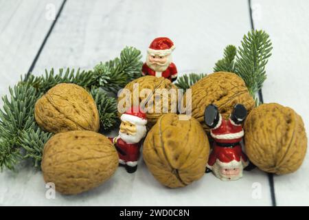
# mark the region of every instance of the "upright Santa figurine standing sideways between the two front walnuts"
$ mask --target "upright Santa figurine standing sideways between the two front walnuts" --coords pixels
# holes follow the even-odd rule
[[[119,165],[125,166],[128,173],[137,170],[141,140],[146,136],[146,113],[139,107],[131,107],[123,113],[117,137],[109,137],[119,155]]]

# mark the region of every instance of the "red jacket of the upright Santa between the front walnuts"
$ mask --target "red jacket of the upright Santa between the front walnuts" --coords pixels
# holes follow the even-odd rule
[[[113,142],[114,138],[109,137],[109,140]],[[120,137],[117,138],[115,143],[119,159],[124,160],[124,162],[135,162],[139,159],[139,148],[141,147],[141,142],[136,144],[127,144]]]

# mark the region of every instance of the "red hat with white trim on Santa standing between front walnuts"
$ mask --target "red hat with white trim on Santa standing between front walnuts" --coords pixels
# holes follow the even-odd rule
[[[139,107],[130,107],[130,109],[128,109],[126,113],[122,114],[120,119],[122,121],[128,121],[139,125],[147,124],[146,113],[144,111],[141,111]]]

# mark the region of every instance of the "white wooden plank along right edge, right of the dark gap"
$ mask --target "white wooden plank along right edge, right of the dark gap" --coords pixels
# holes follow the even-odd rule
[[[254,0],[255,28],[270,34],[273,56],[267,65],[265,102],[278,102],[302,116],[309,127],[309,14],[308,1]],[[275,195],[279,206],[309,205],[309,157],[297,172],[275,176]]]

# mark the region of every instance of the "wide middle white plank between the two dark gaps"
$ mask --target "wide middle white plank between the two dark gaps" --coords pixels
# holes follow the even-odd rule
[[[35,74],[50,67],[90,69],[118,56],[126,45],[146,49],[157,36],[176,44],[174,63],[179,72],[211,72],[227,44],[240,43],[250,29],[246,0],[239,1],[68,1],[43,50]],[[38,205],[271,205],[268,180],[259,170],[244,173],[239,181],[224,182],[211,174],[200,181],[171,190],[161,186],[141,161],[137,173],[119,168],[100,188],[74,197],[45,199],[40,172],[5,172],[0,193],[3,204]],[[27,179],[27,180],[25,180]],[[254,183],[261,196],[252,197]],[[23,188],[21,188],[23,185]],[[31,186],[30,186],[31,185]],[[2,188],[2,187],[1,187]],[[2,196],[1,196],[2,195]],[[10,199],[9,199],[10,198]]]

